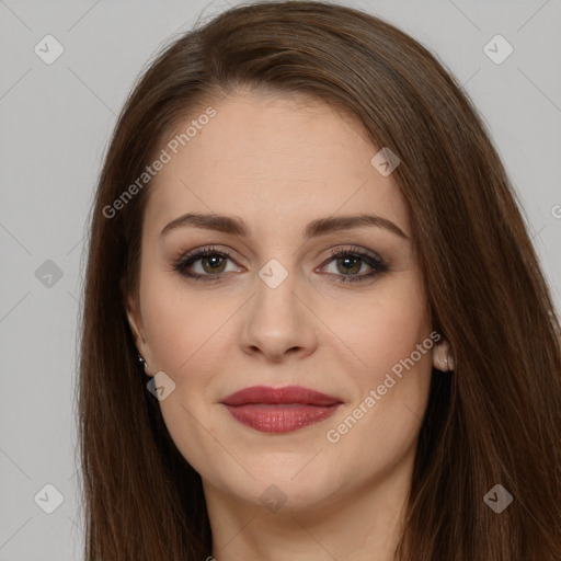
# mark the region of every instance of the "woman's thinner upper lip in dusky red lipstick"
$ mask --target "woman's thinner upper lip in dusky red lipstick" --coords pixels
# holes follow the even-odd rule
[[[342,401],[333,396],[328,396],[310,388],[302,388],[301,386],[285,386],[284,388],[252,386],[234,391],[224,398],[221,403],[227,405],[243,405],[245,403],[302,403],[327,407],[342,403]]]

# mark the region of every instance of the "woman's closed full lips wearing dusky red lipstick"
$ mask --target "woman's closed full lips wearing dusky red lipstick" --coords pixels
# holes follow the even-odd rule
[[[252,386],[221,401],[240,423],[263,433],[288,433],[331,416],[339,398],[300,386]]]

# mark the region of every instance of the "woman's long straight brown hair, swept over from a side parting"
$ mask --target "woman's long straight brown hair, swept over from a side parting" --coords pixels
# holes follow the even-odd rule
[[[237,88],[343,107],[401,160],[392,178],[456,367],[433,370],[396,559],[561,559],[559,319],[500,157],[426,48],[374,15],[314,1],[244,4],[174,38],[119,116],[92,207],[81,318],[85,559],[210,556],[201,477],[147,391],[125,314],[149,183],[114,216],[104,208],[179,123]],[[495,484],[513,496],[500,514],[483,501]]]

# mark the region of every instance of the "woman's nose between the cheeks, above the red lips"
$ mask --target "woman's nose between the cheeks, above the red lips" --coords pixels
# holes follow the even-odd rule
[[[245,307],[241,345],[243,352],[271,362],[302,358],[318,346],[319,320],[311,296],[296,282],[294,274],[275,288],[261,277],[256,294]]]

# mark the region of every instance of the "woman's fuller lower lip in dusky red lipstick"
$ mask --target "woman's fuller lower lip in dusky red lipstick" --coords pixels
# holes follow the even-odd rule
[[[262,433],[290,433],[331,416],[341,403],[328,407],[294,404],[248,403],[226,405],[240,423]]]

